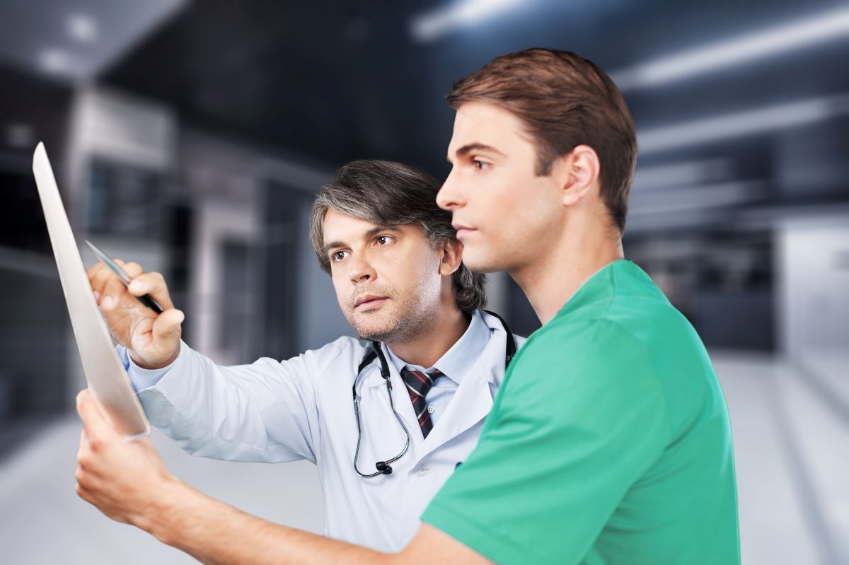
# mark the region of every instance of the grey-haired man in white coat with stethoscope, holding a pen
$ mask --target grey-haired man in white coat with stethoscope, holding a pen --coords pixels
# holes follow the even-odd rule
[[[121,263],[133,278],[125,288],[93,266],[89,280],[150,422],[198,456],[311,461],[326,534],[380,551],[407,545],[475,447],[515,349],[506,325],[481,310],[485,278],[462,264],[439,188],[374,160],[342,167],[323,187],[312,245],[360,339],[289,360],[218,366],[181,340],[183,313],[159,273]],[[165,310],[132,296],[143,294]]]

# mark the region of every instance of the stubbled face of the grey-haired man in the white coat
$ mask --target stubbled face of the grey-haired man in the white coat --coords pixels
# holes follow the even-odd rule
[[[377,226],[331,209],[323,232],[336,299],[361,338],[402,343],[428,327],[441,255],[421,227]]]

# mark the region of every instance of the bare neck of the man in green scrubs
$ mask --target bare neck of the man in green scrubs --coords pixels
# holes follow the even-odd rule
[[[557,240],[546,249],[543,255],[509,271],[543,324],[596,271],[625,256],[621,238],[599,218],[566,222]]]

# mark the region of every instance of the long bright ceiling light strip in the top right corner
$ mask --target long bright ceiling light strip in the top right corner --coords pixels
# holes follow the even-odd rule
[[[818,14],[795,24],[741,36],[614,72],[621,91],[655,87],[722,67],[769,57],[813,43],[849,37],[849,8]]]

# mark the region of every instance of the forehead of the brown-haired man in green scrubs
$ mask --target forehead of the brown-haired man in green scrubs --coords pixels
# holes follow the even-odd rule
[[[507,153],[510,148],[531,142],[521,120],[512,112],[491,103],[467,102],[454,117],[448,156],[469,143],[482,143]]]

